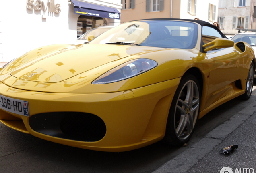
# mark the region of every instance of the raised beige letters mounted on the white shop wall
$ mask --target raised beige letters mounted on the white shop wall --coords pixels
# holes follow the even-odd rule
[[[45,8],[45,4],[41,0],[37,0],[34,2],[34,0],[27,0],[27,8],[29,10],[37,10],[37,11],[46,11],[48,8],[48,12],[55,12],[59,14],[61,12],[60,10],[60,4],[55,4],[54,0],[48,0],[47,1],[47,6]]]

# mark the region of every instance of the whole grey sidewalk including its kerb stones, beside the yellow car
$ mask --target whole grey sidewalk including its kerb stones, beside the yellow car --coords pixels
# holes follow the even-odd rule
[[[250,99],[254,101],[250,105],[153,173],[256,172],[255,93],[256,91],[253,91]],[[229,155],[219,153],[229,145],[238,145],[238,149]]]

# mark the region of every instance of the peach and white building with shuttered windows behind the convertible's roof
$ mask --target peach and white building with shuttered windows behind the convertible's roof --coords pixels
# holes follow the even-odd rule
[[[216,0],[121,0],[121,22],[148,18],[199,18],[217,22]]]

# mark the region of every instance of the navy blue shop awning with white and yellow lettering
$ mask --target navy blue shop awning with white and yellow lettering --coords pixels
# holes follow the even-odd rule
[[[71,0],[74,4],[74,13],[86,16],[120,19],[120,12],[116,8]]]

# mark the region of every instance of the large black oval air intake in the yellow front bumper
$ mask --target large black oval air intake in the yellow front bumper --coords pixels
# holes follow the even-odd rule
[[[106,134],[104,121],[90,113],[41,113],[31,116],[29,125],[39,133],[76,141],[99,141]]]

